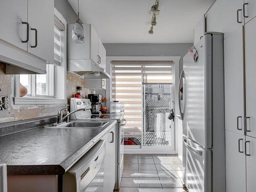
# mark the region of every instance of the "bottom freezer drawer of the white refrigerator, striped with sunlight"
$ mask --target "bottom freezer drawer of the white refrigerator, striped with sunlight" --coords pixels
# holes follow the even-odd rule
[[[212,152],[183,137],[183,182],[189,192],[211,192]]]

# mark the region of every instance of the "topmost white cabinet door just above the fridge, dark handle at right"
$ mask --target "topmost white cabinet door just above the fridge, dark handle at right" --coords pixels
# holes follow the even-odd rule
[[[223,32],[224,38],[228,37],[243,23],[242,8],[242,0],[216,1],[206,13],[207,31]],[[238,23],[238,21],[241,23]]]

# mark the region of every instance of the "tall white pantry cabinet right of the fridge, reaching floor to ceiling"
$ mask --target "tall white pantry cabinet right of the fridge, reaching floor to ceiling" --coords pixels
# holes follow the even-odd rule
[[[206,13],[206,28],[225,34],[226,191],[254,192],[256,1],[217,0]]]

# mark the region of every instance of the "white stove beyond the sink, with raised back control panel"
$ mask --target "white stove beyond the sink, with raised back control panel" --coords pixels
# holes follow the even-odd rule
[[[123,150],[124,150],[124,129],[126,123],[123,113],[106,113],[95,115],[91,113],[92,105],[90,99],[71,98],[70,112],[77,109],[86,108],[86,111],[78,111],[71,115],[71,119],[114,119],[118,121],[117,126],[117,151],[116,151],[116,184],[115,189],[120,188],[121,177],[123,173]]]

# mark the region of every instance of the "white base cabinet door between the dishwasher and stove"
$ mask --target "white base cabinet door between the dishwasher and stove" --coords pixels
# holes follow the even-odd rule
[[[116,127],[114,126],[105,136],[104,161],[104,191],[113,191],[116,181]]]

